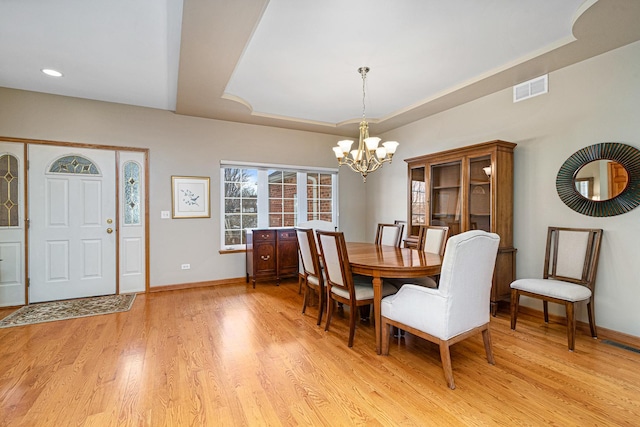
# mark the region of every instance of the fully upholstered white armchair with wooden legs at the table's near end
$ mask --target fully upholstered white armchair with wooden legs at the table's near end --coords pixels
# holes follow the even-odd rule
[[[495,364],[489,332],[490,293],[500,237],[483,230],[457,234],[447,241],[438,289],[406,284],[382,299],[382,354],[389,354],[391,327],[440,347],[449,388],[454,389],[449,347],[482,333],[487,361]]]

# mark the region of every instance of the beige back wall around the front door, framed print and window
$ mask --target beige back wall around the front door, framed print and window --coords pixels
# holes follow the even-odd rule
[[[152,287],[244,277],[243,253],[218,252],[220,160],[333,168],[339,139],[1,88],[0,136],[149,148]],[[171,210],[171,175],[211,177],[210,219],[160,219]],[[339,182],[340,228],[361,240],[362,182],[346,169]]]

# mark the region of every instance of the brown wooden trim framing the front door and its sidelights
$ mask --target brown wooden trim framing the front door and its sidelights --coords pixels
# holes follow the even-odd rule
[[[116,168],[116,224],[118,227],[116,228],[116,294],[120,293],[120,152],[121,151],[131,151],[138,152],[144,154],[144,240],[145,240],[145,250],[144,250],[144,268],[145,268],[145,284],[144,284],[144,292],[149,293],[150,289],[150,278],[149,278],[149,270],[150,270],[150,260],[149,260],[149,149],[148,148],[138,148],[138,147],[126,147],[126,146],[118,146],[118,145],[105,145],[105,144],[87,144],[87,143],[78,143],[78,142],[66,142],[66,141],[53,141],[53,140],[44,140],[44,139],[30,139],[30,138],[14,138],[14,137],[5,137],[0,136],[0,141],[4,142],[16,142],[24,144],[24,159],[25,166],[23,168],[23,182],[24,182],[24,220],[27,222],[27,225],[24,227],[24,277],[25,277],[25,304],[29,304],[29,180],[28,180],[28,170],[29,170],[29,157],[28,157],[28,148],[29,145],[53,145],[60,147],[75,147],[75,148],[88,148],[88,149],[97,149],[97,150],[112,150],[115,152],[116,164],[114,165]]]

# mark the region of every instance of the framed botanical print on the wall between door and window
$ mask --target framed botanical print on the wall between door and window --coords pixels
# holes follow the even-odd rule
[[[172,176],[171,217],[211,218],[209,185],[205,176]]]

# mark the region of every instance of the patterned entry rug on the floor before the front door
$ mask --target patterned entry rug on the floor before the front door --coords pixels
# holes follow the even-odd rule
[[[0,320],[0,328],[129,311],[135,299],[122,294],[25,305]]]

